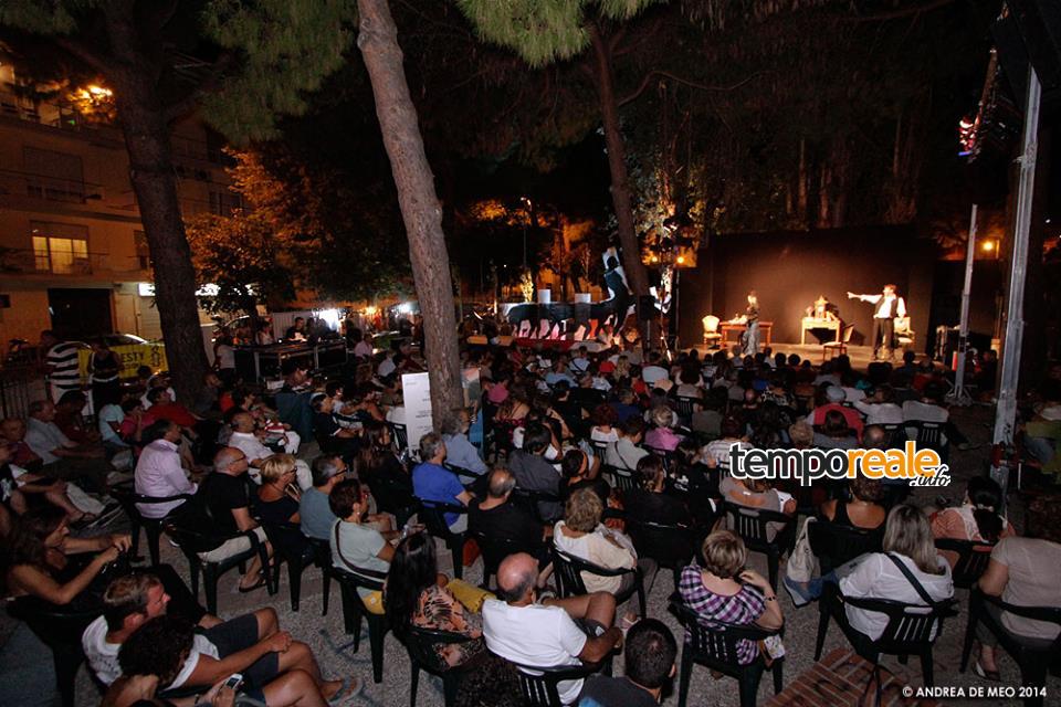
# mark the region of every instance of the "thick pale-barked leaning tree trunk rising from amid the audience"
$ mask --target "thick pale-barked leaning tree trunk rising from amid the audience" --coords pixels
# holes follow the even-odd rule
[[[376,115],[398,188],[398,202],[409,236],[412,277],[423,316],[424,347],[431,380],[431,410],[438,425],[442,416],[464,404],[453,284],[442,233],[442,207],[434,176],[423,151],[417,109],[409,97],[402,67],[398,29],[387,0],[357,0],[361,51],[376,97]],[[416,440],[410,440],[416,444]]]

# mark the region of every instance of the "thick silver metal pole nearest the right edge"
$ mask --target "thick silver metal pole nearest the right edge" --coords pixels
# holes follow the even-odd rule
[[[1017,421],[1017,386],[1020,374],[1020,349],[1025,320],[1025,277],[1028,268],[1028,232],[1031,229],[1031,202],[1036,186],[1036,156],[1039,150],[1039,104],[1042,87],[1033,66],[1028,66],[1028,95],[1025,105],[1025,135],[1017,191],[1017,218],[1013,223],[1013,250],[1009,272],[1009,297],[1006,305],[1006,335],[1002,339],[1002,371],[995,409],[995,444],[1013,442]],[[1002,489],[1009,481],[1009,469],[1002,463],[991,468]]]

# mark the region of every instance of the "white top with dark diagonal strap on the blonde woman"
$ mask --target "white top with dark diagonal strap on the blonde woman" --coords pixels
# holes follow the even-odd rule
[[[922,572],[914,561],[902,555],[893,555],[900,562],[917,578],[921,585],[934,601],[942,601],[954,597],[954,582],[950,581],[950,566],[947,561],[937,556],[939,567],[943,568],[943,574],[927,574]],[[854,571],[847,577],[840,578],[840,591],[848,597],[862,597],[865,599],[891,599],[908,604],[924,604],[925,600],[921,598],[914,585],[910,583],[906,576],[895,567],[895,563],[887,559],[883,552],[874,552],[863,556]],[[851,626],[872,640],[878,640],[884,633],[887,626],[887,615],[876,611],[866,611],[855,606],[847,606],[848,621]],[[927,610],[926,610],[927,612]],[[938,626],[933,630],[933,634],[938,631]]]

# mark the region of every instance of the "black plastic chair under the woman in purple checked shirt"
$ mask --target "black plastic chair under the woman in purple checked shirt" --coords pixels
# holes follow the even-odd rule
[[[679,668],[677,707],[685,707],[689,700],[689,683],[693,665],[696,664],[736,677],[740,685],[740,707],[754,707],[766,662],[760,654],[752,663],[740,664],[737,644],[740,641],[760,641],[767,636],[782,635],[784,627],[767,631],[753,624],[736,625],[716,621],[711,622],[708,627],[701,623],[695,611],[675,597],[671,598],[671,612],[685,626],[687,635]],[[776,658],[769,669],[774,673],[774,694],[777,695],[785,682],[785,656]]]

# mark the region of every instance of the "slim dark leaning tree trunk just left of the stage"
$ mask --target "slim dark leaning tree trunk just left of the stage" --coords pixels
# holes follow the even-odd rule
[[[627,150],[619,127],[619,104],[616,101],[611,71],[611,53],[608,43],[596,23],[590,22],[589,35],[597,55],[597,95],[608,146],[608,169],[611,172],[611,201],[619,222],[619,245],[622,247],[622,267],[627,284],[637,296],[649,294],[649,278],[641,262],[641,247],[633,225],[633,205],[630,197],[630,178],[627,171]],[[640,302],[638,303],[640,306]],[[645,341],[648,345],[648,341]]]

